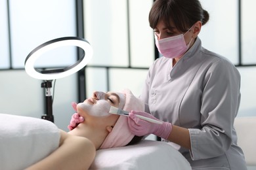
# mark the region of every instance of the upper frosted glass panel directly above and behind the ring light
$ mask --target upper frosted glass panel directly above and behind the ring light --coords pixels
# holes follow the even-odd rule
[[[75,1],[10,0],[12,67],[23,68],[26,56],[43,42],[76,35]],[[62,59],[51,58],[47,65],[70,65],[74,51],[62,51]],[[50,64],[51,63],[51,64]],[[45,62],[42,63],[42,67]]]

